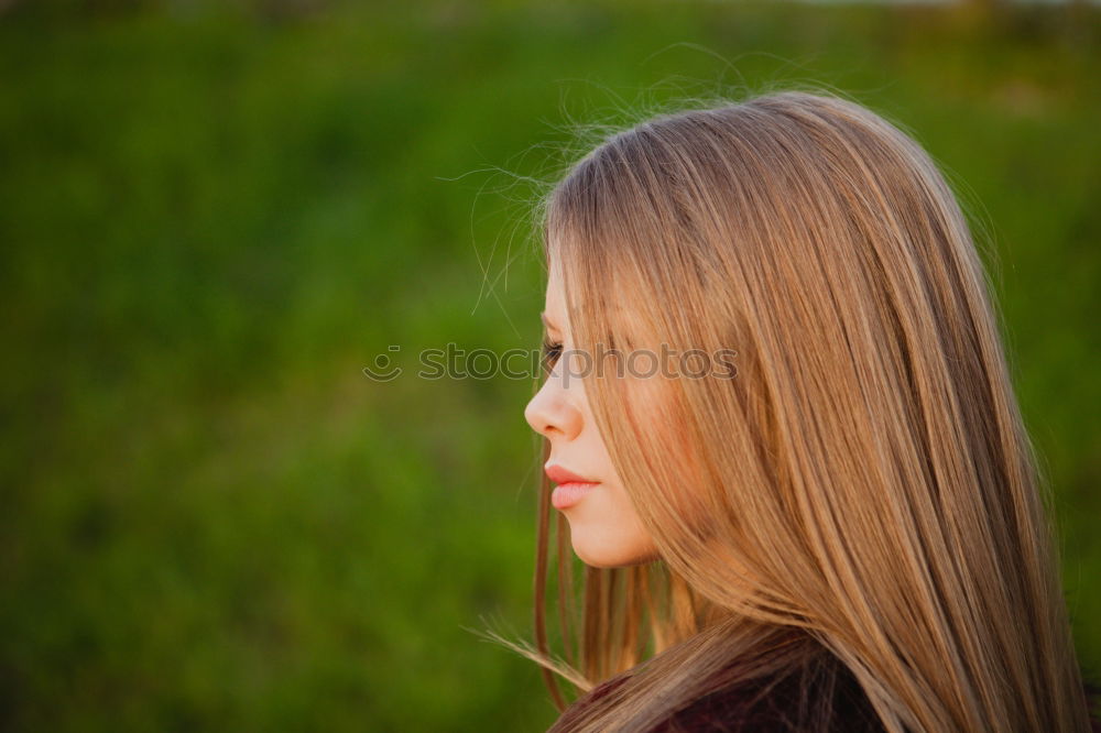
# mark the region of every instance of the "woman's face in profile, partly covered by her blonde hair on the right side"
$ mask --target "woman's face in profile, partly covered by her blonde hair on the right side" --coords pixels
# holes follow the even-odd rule
[[[656,548],[623,489],[589,412],[579,374],[581,360],[570,359],[573,339],[565,292],[554,261],[543,319],[546,340],[560,344],[562,357],[527,403],[524,417],[550,444],[550,458],[544,469],[557,484],[552,501],[569,522],[574,551],[595,567],[654,560]],[[577,483],[577,479],[584,482]]]

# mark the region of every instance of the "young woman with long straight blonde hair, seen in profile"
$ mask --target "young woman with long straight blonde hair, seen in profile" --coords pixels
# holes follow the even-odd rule
[[[552,731],[1090,729],[991,288],[914,140],[766,94],[611,136],[539,214],[548,480],[514,648]]]

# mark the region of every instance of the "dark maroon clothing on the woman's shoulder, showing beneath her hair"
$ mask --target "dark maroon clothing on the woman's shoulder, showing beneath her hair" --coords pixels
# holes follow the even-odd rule
[[[653,733],[884,730],[860,685],[838,666],[825,672],[788,674],[711,692],[674,712]]]

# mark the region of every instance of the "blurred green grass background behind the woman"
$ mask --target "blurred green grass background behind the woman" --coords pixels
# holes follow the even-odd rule
[[[1101,665],[1097,9],[53,7],[0,15],[6,729],[549,725],[460,627],[527,625],[531,385],[360,370],[534,346],[560,125],[742,85],[851,92],[989,228]]]

